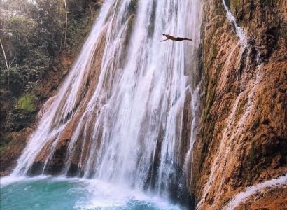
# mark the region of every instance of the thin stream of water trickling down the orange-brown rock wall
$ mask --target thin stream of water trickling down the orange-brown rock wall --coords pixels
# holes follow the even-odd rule
[[[251,45],[249,38],[246,37],[244,34],[244,30],[237,25],[237,22],[235,20],[235,17],[230,12],[230,9],[225,3],[225,0],[223,0],[223,6],[226,11],[226,17],[228,20],[232,23],[232,25],[235,27],[235,32],[237,37],[239,38],[239,41],[237,41],[236,45],[231,49],[227,59],[225,60],[224,66],[223,66],[223,76],[221,78],[221,87],[225,87],[226,84],[230,83],[230,80],[228,80],[228,73],[231,72],[230,69],[237,69],[237,71],[240,71],[240,69],[243,69],[241,71],[246,71],[246,69],[250,68],[248,67],[248,62],[250,62],[251,59],[251,50],[253,50],[253,46]],[[238,53],[238,54],[236,54]],[[237,56],[238,55],[238,56]],[[247,56],[246,56],[247,55]],[[244,63],[245,62],[245,63]],[[247,64],[246,64],[247,63]],[[235,66],[230,66],[230,64],[235,64]],[[232,137],[235,137],[236,134],[243,132],[242,126],[248,116],[248,113],[253,108],[251,104],[251,98],[253,97],[253,93],[255,88],[257,87],[260,79],[260,66],[258,66],[258,72],[256,74],[255,80],[252,82],[253,87],[250,92],[247,92],[248,90],[240,90],[240,92],[236,100],[232,106],[232,109],[230,113],[228,114],[228,120],[227,125],[225,129],[223,130],[223,135],[221,137],[220,144],[218,146],[218,151],[216,153],[216,156],[214,158],[214,162],[211,165],[211,172],[209,174],[209,177],[207,179],[207,183],[205,184],[203,191],[202,191],[202,197],[201,200],[197,204],[197,209],[206,208],[203,207],[203,205],[207,202],[207,196],[211,194],[211,187],[215,184],[218,184],[216,181],[219,180],[219,188],[216,189],[216,192],[218,194],[223,192],[223,186],[224,186],[224,179],[221,179],[222,174],[225,174],[225,165],[226,162],[228,162],[228,157],[230,157],[231,147],[232,147]],[[239,80],[238,72],[237,72],[237,80]],[[239,118],[240,123],[235,122],[237,109],[239,106],[239,102],[242,100],[244,95],[248,93],[248,104],[247,104],[247,110],[244,113],[244,116]],[[237,126],[237,130],[233,131],[232,128]],[[212,195],[212,203],[218,202],[220,200],[220,196]]]

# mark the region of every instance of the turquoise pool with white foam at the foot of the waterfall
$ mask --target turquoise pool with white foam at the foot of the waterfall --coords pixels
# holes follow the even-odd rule
[[[1,184],[3,209],[181,209],[156,195],[97,179],[35,176],[13,181]]]

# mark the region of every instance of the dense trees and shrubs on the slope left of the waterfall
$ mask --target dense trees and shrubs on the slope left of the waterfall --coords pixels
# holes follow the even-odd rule
[[[0,1],[1,146],[34,122],[42,84],[62,69],[61,55],[76,56],[98,8],[97,0]]]

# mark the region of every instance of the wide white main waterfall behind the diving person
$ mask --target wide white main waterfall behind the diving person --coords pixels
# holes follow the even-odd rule
[[[201,11],[200,0],[106,0],[13,175],[57,171],[163,197],[184,188],[194,135],[183,132],[195,130],[186,110],[197,104]],[[162,33],[193,41],[160,43]]]

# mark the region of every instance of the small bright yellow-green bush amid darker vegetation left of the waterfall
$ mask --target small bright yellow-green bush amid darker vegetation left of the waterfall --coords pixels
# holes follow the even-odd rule
[[[15,109],[34,112],[36,110],[37,97],[35,94],[24,94],[20,99],[15,102]]]

